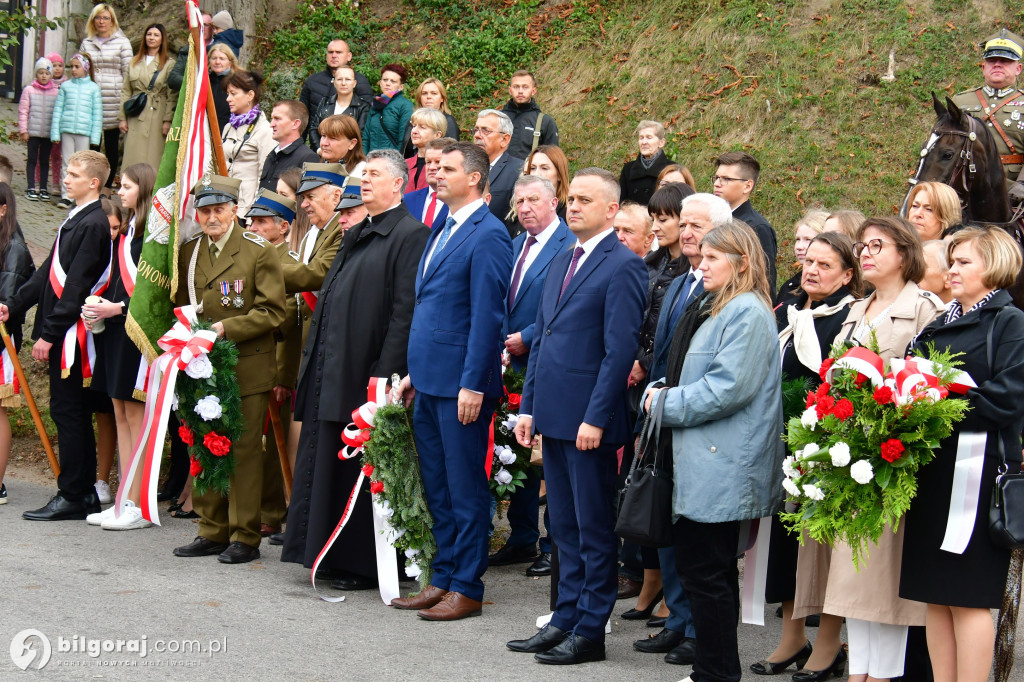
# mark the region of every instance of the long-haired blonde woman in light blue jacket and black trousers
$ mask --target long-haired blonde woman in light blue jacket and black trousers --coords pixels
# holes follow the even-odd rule
[[[782,503],[778,333],[757,236],[733,220],[700,242],[706,294],[676,327],[647,409],[671,429],[676,567],[697,632],[693,678],[736,682],[741,521]]]

